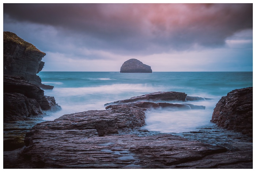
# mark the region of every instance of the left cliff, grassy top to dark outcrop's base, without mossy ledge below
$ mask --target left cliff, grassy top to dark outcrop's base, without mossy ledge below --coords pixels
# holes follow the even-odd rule
[[[4,121],[40,116],[42,110],[56,110],[54,97],[44,95],[36,74],[44,67],[45,56],[34,45],[12,32],[4,32]],[[50,86],[51,87],[51,86]],[[52,87],[53,88],[53,87]]]

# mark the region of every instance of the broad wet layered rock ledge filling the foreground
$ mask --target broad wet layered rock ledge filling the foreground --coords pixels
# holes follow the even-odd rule
[[[227,151],[170,134],[139,136],[145,110],[123,104],[39,123],[20,156],[5,154],[4,168],[252,168],[252,143]]]

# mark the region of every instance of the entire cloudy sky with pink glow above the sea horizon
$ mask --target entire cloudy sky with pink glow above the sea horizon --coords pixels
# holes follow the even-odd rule
[[[252,71],[252,4],[3,4],[3,30],[46,53],[42,71]]]

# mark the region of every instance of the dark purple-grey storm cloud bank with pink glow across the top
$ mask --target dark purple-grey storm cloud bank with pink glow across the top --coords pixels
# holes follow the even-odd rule
[[[4,16],[50,25],[79,44],[114,52],[159,53],[219,47],[252,29],[252,4],[4,4]]]

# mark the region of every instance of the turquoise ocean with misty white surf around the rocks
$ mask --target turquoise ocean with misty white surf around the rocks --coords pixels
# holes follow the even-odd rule
[[[38,75],[43,84],[54,86],[53,90],[45,90],[45,95],[54,96],[62,108],[46,112],[44,120],[104,110],[106,103],[159,91],[185,92],[188,96],[211,99],[188,102],[204,105],[206,109],[148,110],[143,128],[164,133],[197,131],[213,125],[210,120],[219,99],[234,89],[252,87],[253,83],[252,72],[39,72]]]

